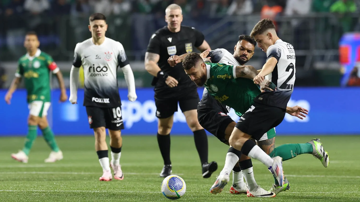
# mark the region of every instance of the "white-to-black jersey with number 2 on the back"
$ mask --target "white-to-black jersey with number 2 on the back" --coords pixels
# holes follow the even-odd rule
[[[269,46],[266,56],[267,60],[274,57],[278,61],[273,72],[265,76],[265,79],[276,85],[277,90],[262,93],[255,101],[286,109],[295,83],[294,47],[290,43],[278,39],[274,45]]]

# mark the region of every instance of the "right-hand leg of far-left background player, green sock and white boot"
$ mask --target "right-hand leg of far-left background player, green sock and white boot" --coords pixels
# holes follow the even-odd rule
[[[46,143],[51,148],[50,155],[47,159],[45,159],[45,163],[53,163],[55,161],[62,160],[63,152],[60,151],[58,144],[56,143],[54,133],[49,127],[46,116],[40,118],[39,128],[41,129],[42,136],[44,136]]]

